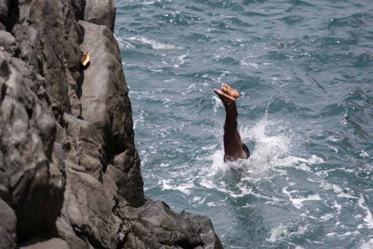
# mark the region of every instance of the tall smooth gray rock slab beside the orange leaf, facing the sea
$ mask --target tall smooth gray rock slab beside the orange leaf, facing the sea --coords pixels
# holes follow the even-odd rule
[[[82,118],[95,124],[104,137],[108,165],[106,174],[131,205],[144,204],[140,158],[134,146],[131,102],[122,71],[117,41],[106,26],[79,21],[84,42],[81,49],[90,53],[82,84]],[[102,84],[106,82],[106,84]]]

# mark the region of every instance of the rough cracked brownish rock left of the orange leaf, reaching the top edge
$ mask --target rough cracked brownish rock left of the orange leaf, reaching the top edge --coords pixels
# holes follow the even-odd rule
[[[12,3],[13,5],[17,3]],[[75,117],[81,52],[80,28],[70,0],[21,1],[10,11],[8,26],[20,41],[22,59],[48,81],[48,93]]]

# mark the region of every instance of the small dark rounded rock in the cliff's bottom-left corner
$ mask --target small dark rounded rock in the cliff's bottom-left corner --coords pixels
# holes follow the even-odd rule
[[[0,169],[2,164],[2,153],[0,151]],[[17,248],[16,234],[17,217],[15,211],[0,198],[0,248]]]

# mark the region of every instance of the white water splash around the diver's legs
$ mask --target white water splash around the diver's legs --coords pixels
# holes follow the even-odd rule
[[[239,132],[242,141],[251,151],[248,159],[224,163],[222,128],[212,129],[220,147],[214,148],[212,154],[202,158],[211,161],[209,174],[216,174],[227,169],[240,169],[245,172],[260,173],[275,166],[290,166],[299,162],[311,162],[305,158],[294,156],[298,154],[306,138],[291,129],[283,120],[271,120],[265,114],[254,125],[244,124]]]

